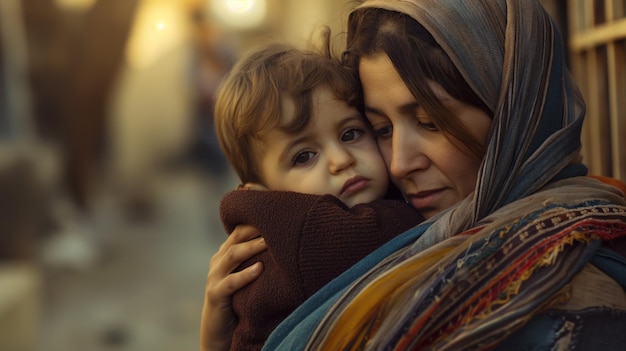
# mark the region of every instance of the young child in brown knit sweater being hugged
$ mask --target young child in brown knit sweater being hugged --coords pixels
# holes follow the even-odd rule
[[[321,53],[272,44],[249,54],[219,88],[215,125],[242,183],[220,212],[230,233],[257,228],[262,274],[233,296],[231,350],[260,350],[272,330],[319,288],[421,222],[382,200],[389,178],[357,109],[359,86]]]

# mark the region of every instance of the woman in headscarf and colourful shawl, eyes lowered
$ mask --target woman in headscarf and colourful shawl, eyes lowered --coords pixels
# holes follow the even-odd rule
[[[626,201],[585,176],[584,105],[541,5],[366,1],[345,58],[392,178],[429,220],[310,298],[266,349],[622,347]]]

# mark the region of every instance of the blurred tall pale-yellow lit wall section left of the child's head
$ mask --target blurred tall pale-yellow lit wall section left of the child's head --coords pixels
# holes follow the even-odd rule
[[[190,135],[192,43],[185,1],[142,0],[110,101],[110,177],[123,191],[147,191]]]

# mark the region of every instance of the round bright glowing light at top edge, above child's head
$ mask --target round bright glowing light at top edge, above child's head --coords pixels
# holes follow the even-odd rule
[[[253,29],[265,21],[265,0],[210,0],[210,11],[228,28]]]

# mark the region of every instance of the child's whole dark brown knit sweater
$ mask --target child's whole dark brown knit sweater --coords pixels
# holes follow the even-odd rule
[[[348,208],[330,196],[233,191],[220,206],[228,233],[256,227],[268,249],[240,268],[263,262],[263,273],[233,296],[238,324],[231,350],[260,350],[270,333],[326,283],[423,218],[397,200]]]

